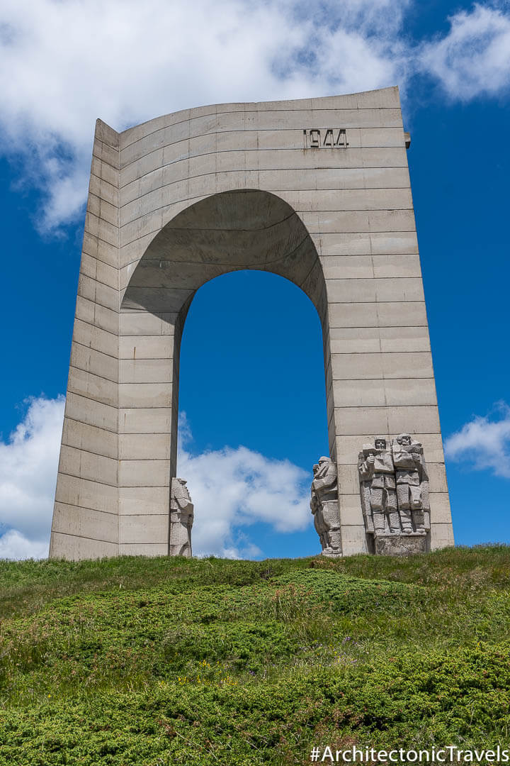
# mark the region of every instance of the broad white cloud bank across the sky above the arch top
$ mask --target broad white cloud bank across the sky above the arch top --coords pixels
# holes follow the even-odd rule
[[[206,103],[353,93],[426,72],[453,97],[508,84],[510,17],[476,5],[412,44],[411,0],[5,0],[4,152],[43,192],[39,225],[76,219],[93,125],[115,129]]]

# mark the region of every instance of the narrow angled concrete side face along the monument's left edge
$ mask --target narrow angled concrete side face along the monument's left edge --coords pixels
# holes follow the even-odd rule
[[[96,123],[50,557],[119,552],[119,134]]]

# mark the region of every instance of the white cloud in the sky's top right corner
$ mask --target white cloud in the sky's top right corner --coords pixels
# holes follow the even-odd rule
[[[452,99],[502,93],[510,85],[510,16],[478,4],[460,11],[445,37],[424,44],[419,60]]]

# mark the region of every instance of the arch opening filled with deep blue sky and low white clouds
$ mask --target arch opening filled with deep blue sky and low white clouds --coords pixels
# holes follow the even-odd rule
[[[198,290],[180,350],[177,457],[195,505],[194,552],[316,552],[310,466],[327,450],[321,336],[307,296],[274,274],[237,271]]]

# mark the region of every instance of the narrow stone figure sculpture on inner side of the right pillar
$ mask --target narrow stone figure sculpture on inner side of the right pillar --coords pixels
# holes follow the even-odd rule
[[[319,462],[313,466],[310,509],[322,546],[322,555],[341,556],[338,474],[336,464],[330,457],[320,457]]]

